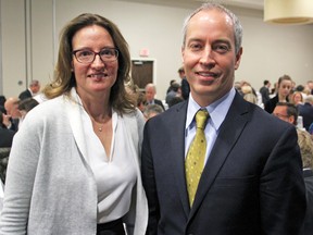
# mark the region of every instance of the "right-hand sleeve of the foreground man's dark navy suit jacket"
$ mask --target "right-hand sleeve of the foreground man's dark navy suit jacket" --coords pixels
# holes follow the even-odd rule
[[[305,187],[297,132],[288,127],[272,150],[260,178],[263,233],[299,233],[305,211]]]

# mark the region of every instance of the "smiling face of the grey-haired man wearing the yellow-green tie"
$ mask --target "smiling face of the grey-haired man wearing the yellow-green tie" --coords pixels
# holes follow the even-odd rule
[[[231,89],[242,49],[236,54],[233,23],[216,10],[193,15],[185,41],[183,63],[192,98],[209,106]]]

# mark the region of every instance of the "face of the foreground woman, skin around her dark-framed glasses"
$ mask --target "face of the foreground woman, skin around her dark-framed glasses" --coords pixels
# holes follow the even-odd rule
[[[101,26],[86,26],[74,35],[73,51],[87,49],[99,52],[103,48],[115,48],[109,32]],[[92,96],[110,97],[111,87],[116,82],[118,61],[103,62],[97,54],[93,62],[80,63],[73,55],[73,71],[76,79],[76,89],[80,98]]]

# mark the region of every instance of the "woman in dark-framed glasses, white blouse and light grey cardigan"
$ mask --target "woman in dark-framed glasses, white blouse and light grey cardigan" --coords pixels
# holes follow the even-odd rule
[[[139,172],[145,124],[115,24],[82,14],[63,29],[50,100],[25,118],[11,150],[0,234],[145,234]]]

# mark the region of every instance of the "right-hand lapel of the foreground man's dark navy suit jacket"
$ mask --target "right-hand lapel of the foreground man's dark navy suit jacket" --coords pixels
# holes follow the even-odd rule
[[[220,134],[213,146],[210,158],[203,169],[189,219],[195,214],[197,208],[200,207],[202,199],[210,190],[220,169],[227,160],[231,148],[248,122],[248,106],[239,96],[240,95],[236,94],[225,121],[221,126]]]

